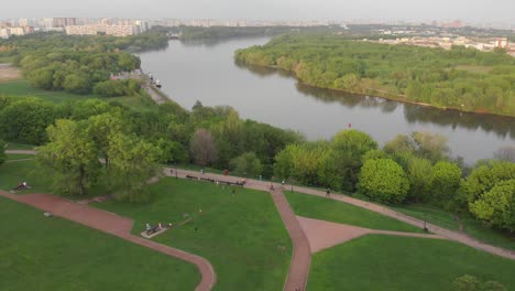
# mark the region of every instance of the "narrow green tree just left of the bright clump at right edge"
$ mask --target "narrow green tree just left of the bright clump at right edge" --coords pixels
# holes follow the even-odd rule
[[[451,162],[440,161],[432,166],[431,175],[432,200],[448,203],[456,198],[461,181],[461,169]]]

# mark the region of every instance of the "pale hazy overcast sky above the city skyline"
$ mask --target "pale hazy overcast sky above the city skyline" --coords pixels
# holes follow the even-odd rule
[[[515,24],[515,0],[2,0],[0,19],[456,20]]]

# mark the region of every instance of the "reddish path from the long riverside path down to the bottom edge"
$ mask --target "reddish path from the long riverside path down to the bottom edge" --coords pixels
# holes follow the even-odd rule
[[[283,192],[281,190],[274,190],[271,194],[293,242],[293,256],[289,263],[288,277],[284,283],[284,290],[306,290],[309,263],[311,261],[309,241]]]

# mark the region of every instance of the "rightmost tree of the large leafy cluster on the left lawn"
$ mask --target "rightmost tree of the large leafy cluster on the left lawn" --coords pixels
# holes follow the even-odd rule
[[[116,196],[129,202],[144,202],[150,197],[146,186],[158,174],[160,149],[146,141],[116,134],[109,138],[110,166],[108,185]]]

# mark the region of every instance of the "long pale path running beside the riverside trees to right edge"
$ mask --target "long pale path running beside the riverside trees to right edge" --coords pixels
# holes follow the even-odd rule
[[[169,175],[169,176],[175,176],[175,173],[171,174],[169,170],[174,170],[174,172],[175,172],[175,169],[169,169],[168,168],[168,169],[164,170],[164,173],[166,175]],[[224,176],[224,175],[209,174],[209,173],[200,174],[199,172],[188,171],[188,170],[178,170],[178,172],[177,172],[178,177],[186,177],[186,175],[188,175],[188,174],[189,175],[195,175],[195,176],[200,176],[201,175],[201,176],[205,176],[205,177],[210,177],[210,179],[220,180],[220,181],[235,182],[235,181],[241,181],[242,180],[241,177],[237,177],[237,176]],[[278,184],[278,183],[274,183],[274,185],[275,185],[275,187],[281,187],[281,184]],[[258,180],[248,180],[248,182],[245,184],[245,187],[261,190],[261,191],[269,191],[270,182],[258,181]],[[285,188],[289,190],[291,185],[285,185]],[[309,195],[315,195],[315,196],[319,196],[319,197],[326,197],[326,192],[314,190],[314,188],[294,186],[294,191],[303,193],[303,194],[309,194]],[[365,202],[365,201],[352,198],[352,197],[349,197],[349,196],[338,195],[338,194],[331,194],[329,197],[326,197],[326,198],[330,198],[330,200],[352,204],[354,206],[362,207],[362,208],[365,208],[365,209],[369,209],[369,211],[372,211],[372,212],[375,212],[375,213],[380,213],[380,214],[382,214],[384,216],[388,216],[388,217],[395,218],[397,220],[401,220],[401,222],[404,222],[404,223],[407,223],[407,224],[410,224],[410,225],[414,225],[414,226],[417,226],[417,227],[420,227],[420,228],[424,227],[424,220],[420,220],[420,219],[414,218],[412,216],[408,216],[408,215],[392,211],[392,209],[390,209],[387,207],[384,207],[382,205],[377,205],[377,204],[374,204],[374,203],[371,203],[371,202]],[[434,224],[426,223],[426,227],[428,228],[428,230],[430,233],[432,233],[435,235],[442,236],[442,237],[445,237],[447,239],[454,240],[454,241],[458,241],[460,244],[463,244],[463,245],[467,245],[467,246],[470,246],[470,247],[473,247],[473,248],[476,248],[476,249],[480,249],[480,250],[483,250],[483,251],[486,251],[486,252],[490,252],[490,254],[493,254],[493,255],[497,255],[497,256],[501,256],[501,257],[504,257],[504,258],[515,260],[515,251],[481,242],[481,241],[479,241],[479,240],[476,240],[476,239],[474,239],[474,238],[472,238],[472,237],[470,237],[468,235],[461,234],[459,231],[449,230],[449,229],[439,227],[439,226],[434,225]]]

